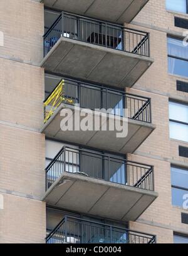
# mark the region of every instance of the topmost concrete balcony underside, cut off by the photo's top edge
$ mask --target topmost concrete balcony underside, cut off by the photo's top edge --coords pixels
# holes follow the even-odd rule
[[[117,23],[130,23],[149,0],[41,0],[45,6]]]

